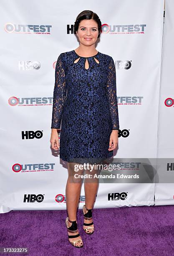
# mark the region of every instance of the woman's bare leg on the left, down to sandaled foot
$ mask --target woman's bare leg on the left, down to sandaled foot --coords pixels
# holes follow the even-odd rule
[[[66,183],[66,207],[68,212],[68,219],[71,221],[76,220],[77,214],[77,206],[79,202],[80,192],[81,192],[81,178],[74,178],[74,174],[83,174],[78,172],[74,172],[74,165],[76,163],[68,163],[68,179]],[[72,223],[68,221],[68,228],[71,227]],[[77,235],[78,230],[73,235]],[[68,232],[68,235],[72,235],[72,233]],[[81,239],[81,236],[78,238],[69,238],[70,242]],[[81,242],[76,243],[76,246],[81,246]]]

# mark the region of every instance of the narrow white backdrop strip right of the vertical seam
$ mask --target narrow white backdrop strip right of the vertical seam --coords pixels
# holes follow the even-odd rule
[[[165,9],[157,157],[166,159],[160,165],[158,179],[171,183],[156,183],[155,205],[174,204],[174,1],[167,0]]]

